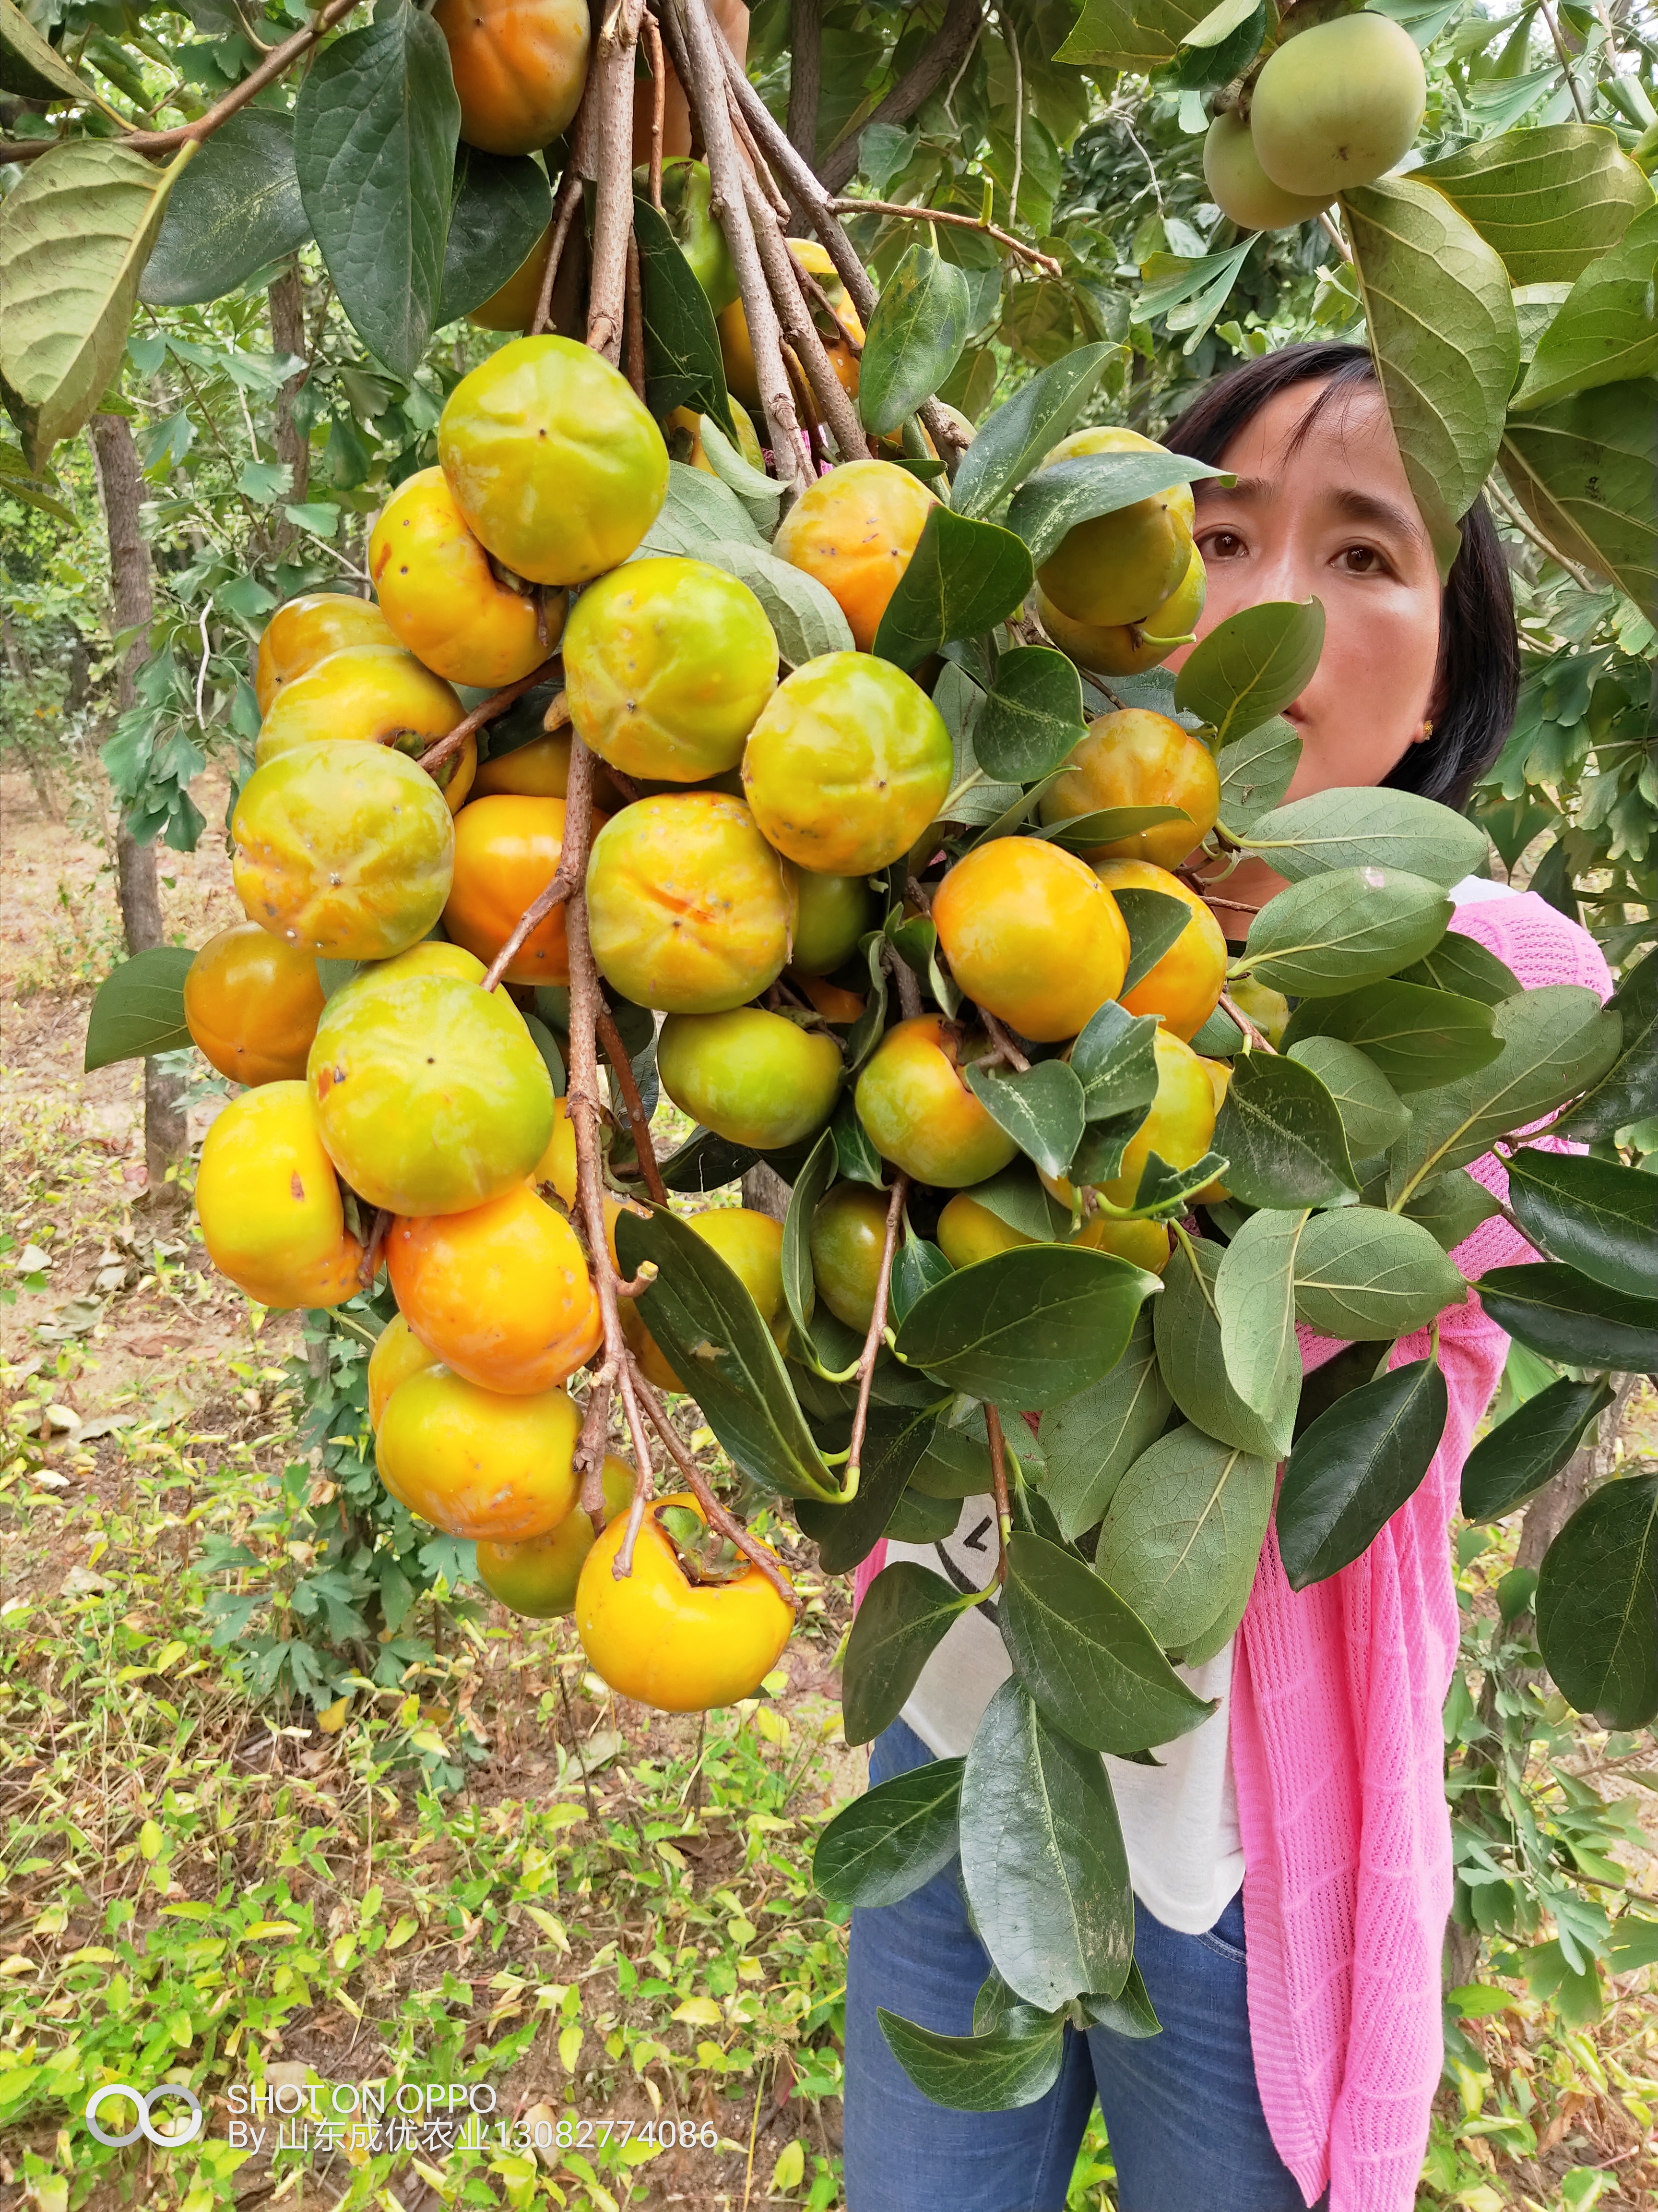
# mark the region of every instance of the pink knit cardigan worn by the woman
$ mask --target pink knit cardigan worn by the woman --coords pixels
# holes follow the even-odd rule
[[[1528,989],[1612,975],[1596,942],[1530,891],[1457,909]],[[1499,1194],[1501,1166],[1472,1170]],[[1534,1259],[1505,1221],[1452,1254],[1475,1281]],[[1309,1369],[1340,1352],[1300,1332]],[[1428,1352],[1426,1329],[1393,1365]],[[1457,1663],[1446,1528],[1508,1356],[1477,1298],[1439,1323],[1450,1420],[1428,1478],[1371,1548],[1295,1595],[1269,1533],[1234,1650],[1231,1763],[1245,1849],[1249,2031],[1273,2143],[1331,2212],[1410,2212],[1439,2081],[1450,1911],[1441,1708]],[[886,1544],[858,1568],[853,1599]]]

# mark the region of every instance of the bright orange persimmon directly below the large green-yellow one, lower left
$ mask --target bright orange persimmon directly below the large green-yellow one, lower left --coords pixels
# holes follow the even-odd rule
[[[599,1349],[586,1254],[528,1181],[464,1214],[393,1221],[387,1267],[409,1327],[482,1389],[553,1389]]]

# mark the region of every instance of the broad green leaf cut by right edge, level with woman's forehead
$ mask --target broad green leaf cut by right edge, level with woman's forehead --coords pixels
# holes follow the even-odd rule
[[[1658,380],[1510,416],[1503,476],[1552,546],[1658,611]]]

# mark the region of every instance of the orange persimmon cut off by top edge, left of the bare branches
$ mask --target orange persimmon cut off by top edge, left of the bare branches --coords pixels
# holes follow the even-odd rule
[[[484,153],[537,153],[568,128],[588,82],[586,0],[438,0],[460,135]]]

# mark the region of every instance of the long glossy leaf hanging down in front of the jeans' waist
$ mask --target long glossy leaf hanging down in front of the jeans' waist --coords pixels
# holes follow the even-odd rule
[[[1052,2011],[1127,1980],[1134,1891],[1099,1752],[1043,1721],[1004,1681],[962,1776],[962,1882],[990,1964],[1026,2004]]]

